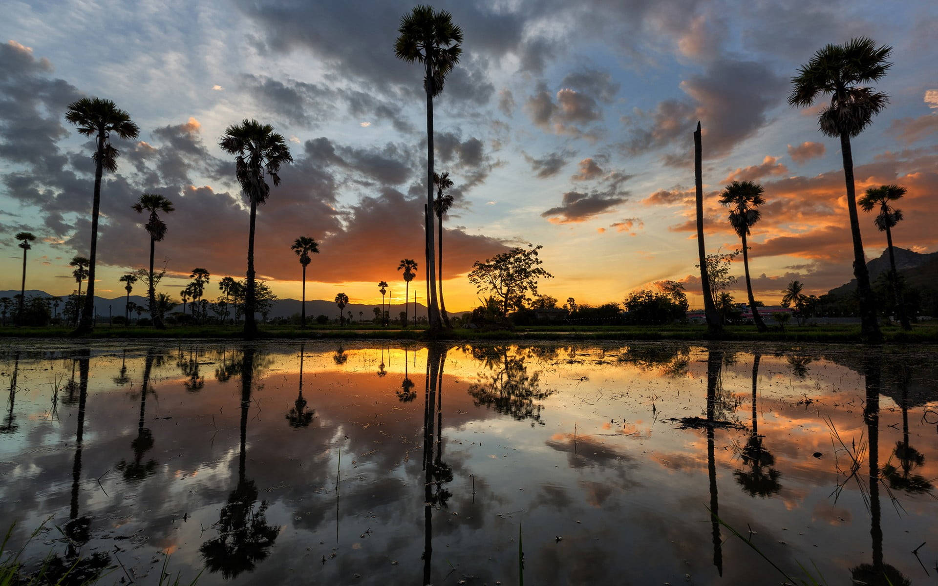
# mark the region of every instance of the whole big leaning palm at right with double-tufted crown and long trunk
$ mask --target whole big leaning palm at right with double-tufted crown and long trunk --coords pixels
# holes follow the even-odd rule
[[[847,211],[850,232],[854,240],[854,276],[860,300],[860,318],[863,337],[869,341],[882,339],[876,322],[876,300],[870,287],[870,272],[863,254],[860,221],[856,213],[854,186],[854,156],[850,139],[867,128],[872,117],[885,109],[889,97],[875,92],[861,83],[882,79],[892,64],[886,61],[892,47],[876,43],[871,38],[854,38],[844,45],[826,45],[814,53],[807,65],[798,69],[792,80],[792,93],[788,103],[792,106],[810,106],[820,94],[830,95],[830,105],[818,116],[818,126],[830,137],[840,137],[843,158],[843,177],[847,188]]]

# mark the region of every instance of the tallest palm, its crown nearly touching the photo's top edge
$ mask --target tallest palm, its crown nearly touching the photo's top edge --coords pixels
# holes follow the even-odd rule
[[[401,17],[400,35],[394,43],[394,54],[408,63],[423,65],[423,89],[427,94],[427,209],[433,209],[433,98],[443,93],[446,75],[459,63],[462,53],[462,30],[453,24],[446,10],[433,10],[429,6],[416,6]],[[425,218],[427,271],[430,275],[430,330],[441,327],[440,309],[437,307],[435,263],[433,259],[433,221]]]

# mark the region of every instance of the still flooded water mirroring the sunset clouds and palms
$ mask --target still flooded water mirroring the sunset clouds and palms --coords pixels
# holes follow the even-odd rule
[[[781,583],[709,508],[793,578],[938,573],[927,347],[0,352],[0,521],[8,551],[46,521],[31,569],[156,584],[171,554],[186,583],[517,584],[522,545],[529,584]]]

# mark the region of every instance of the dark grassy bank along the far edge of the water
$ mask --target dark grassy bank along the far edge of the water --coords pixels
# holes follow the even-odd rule
[[[157,330],[151,327],[98,325],[91,338],[241,338],[241,327],[234,325],[184,325]],[[3,327],[0,338],[68,338],[70,327]],[[938,344],[938,324],[916,324],[911,332],[899,327],[885,327],[886,343]],[[296,325],[269,325],[261,327],[261,338],[288,339],[423,339],[426,330],[421,327],[407,329],[383,328],[374,325],[339,327],[315,325],[301,328]],[[703,325],[541,325],[522,326],[514,330],[478,331],[457,329],[447,339],[454,340],[706,340],[729,341],[783,341],[798,343],[859,342],[858,325],[789,326],[784,331],[776,328],[760,334],[754,326],[734,325],[719,337],[709,336]]]

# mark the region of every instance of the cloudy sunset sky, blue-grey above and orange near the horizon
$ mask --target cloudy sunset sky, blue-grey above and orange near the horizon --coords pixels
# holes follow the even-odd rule
[[[117,279],[148,262],[144,218],[130,208],[143,192],[175,207],[157,245],[168,271],[161,289],[177,296],[195,267],[212,282],[244,276],[249,215],[218,141],[229,125],[256,118],[289,139],[295,158],[259,208],[258,275],[280,297],[299,298],[290,245],[307,235],[321,250],[308,269],[308,299],[344,292],[353,303],[378,303],[376,283],[387,280],[394,301],[403,300],[396,269],[403,258],[422,269],[426,199],[421,68],[393,53],[411,3],[6,6],[0,290],[19,288],[13,234],[22,230],[38,236],[26,288],[75,288],[68,261],[90,244],[93,143],[64,114],[77,98],[100,97],[127,110],[141,132],[113,141],[120,159],[102,186],[96,293],[123,294]],[[434,8],[451,11],[464,33],[461,62],[434,102],[435,165],[455,181],[444,233],[450,310],[477,303],[466,278],[475,261],[527,243],[544,247],[542,266],[554,276],[539,293],[561,302],[622,301],[675,279],[700,305],[698,120],[708,251],[739,248],[718,194],[749,179],[766,199],[749,240],[756,298],[778,302],[793,278],[818,294],[848,281],[840,143],[818,131],[817,107],[793,109],[786,98],[812,53],[857,36],[894,48],[894,66],[877,84],[888,108],[853,142],[857,192],[908,188],[895,244],[938,249],[932,2],[463,0]],[[885,235],[871,215],[860,219],[866,254],[877,257]]]

